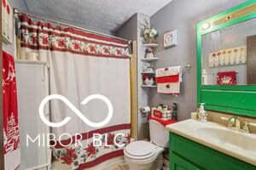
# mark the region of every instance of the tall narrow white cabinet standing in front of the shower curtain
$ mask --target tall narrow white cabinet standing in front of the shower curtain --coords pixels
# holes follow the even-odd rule
[[[44,125],[38,115],[38,106],[42,99],[48,95],[48,79],[44,65],[17,63],[16,69],[20,118],[20,153],[22,156],[20,169],[35,169],[34,167],[50,162],[50,152],[47,147],[42,145],[38,147],[37,142],[34,144],[29,142],[29,146],[26,146],[26,135],[33,139],[38,134],[41,136],[41,134],[49,133],[49,127]],[[46,144],[45,142],[41,141],[40,144]],[[40,170],[45,169],[46,167],[40,168]]]

